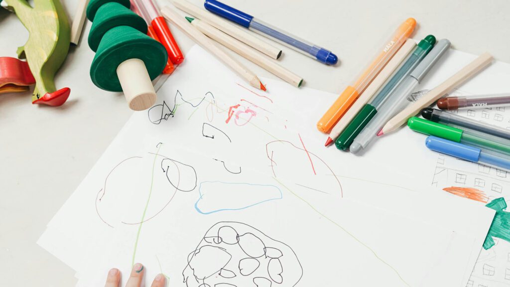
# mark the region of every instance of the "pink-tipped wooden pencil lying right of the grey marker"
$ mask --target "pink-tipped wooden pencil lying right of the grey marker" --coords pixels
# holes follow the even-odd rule
[[[381,133],[387,134],[396,130],[402,124],[407,122],[407,119],[416,115],[421,109],[430,106],[433,102],[439,100],[443,95],[449,93],[455,87],[458,87],[473,75],[478,73],[483,68],[487,67],[492,62],[493,58],[489,53],[484,53],[478,58],[474,59],[471,63],[464,66],[461,70],[457,71],[453,76],[448,78],[446,81],[441,83],[439,86],[433,88],[422,98],[405,108],[397,115],[395,115],[384,127],[382,127]]]

